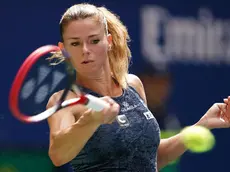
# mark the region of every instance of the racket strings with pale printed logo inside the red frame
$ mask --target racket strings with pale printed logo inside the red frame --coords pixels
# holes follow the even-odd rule
[[[73,72],[72,72],[73,73]],[[71,88],[74,76],[68,76],[65,62],[50,65],[47,55],[41,57],[27,73],[19,93],[19,108],[25,114],[38,114],[46,109],[49,98],[57,91],[64,95],[57,102],[58,108]],[[70,78],[68,78],[70,77]]]

